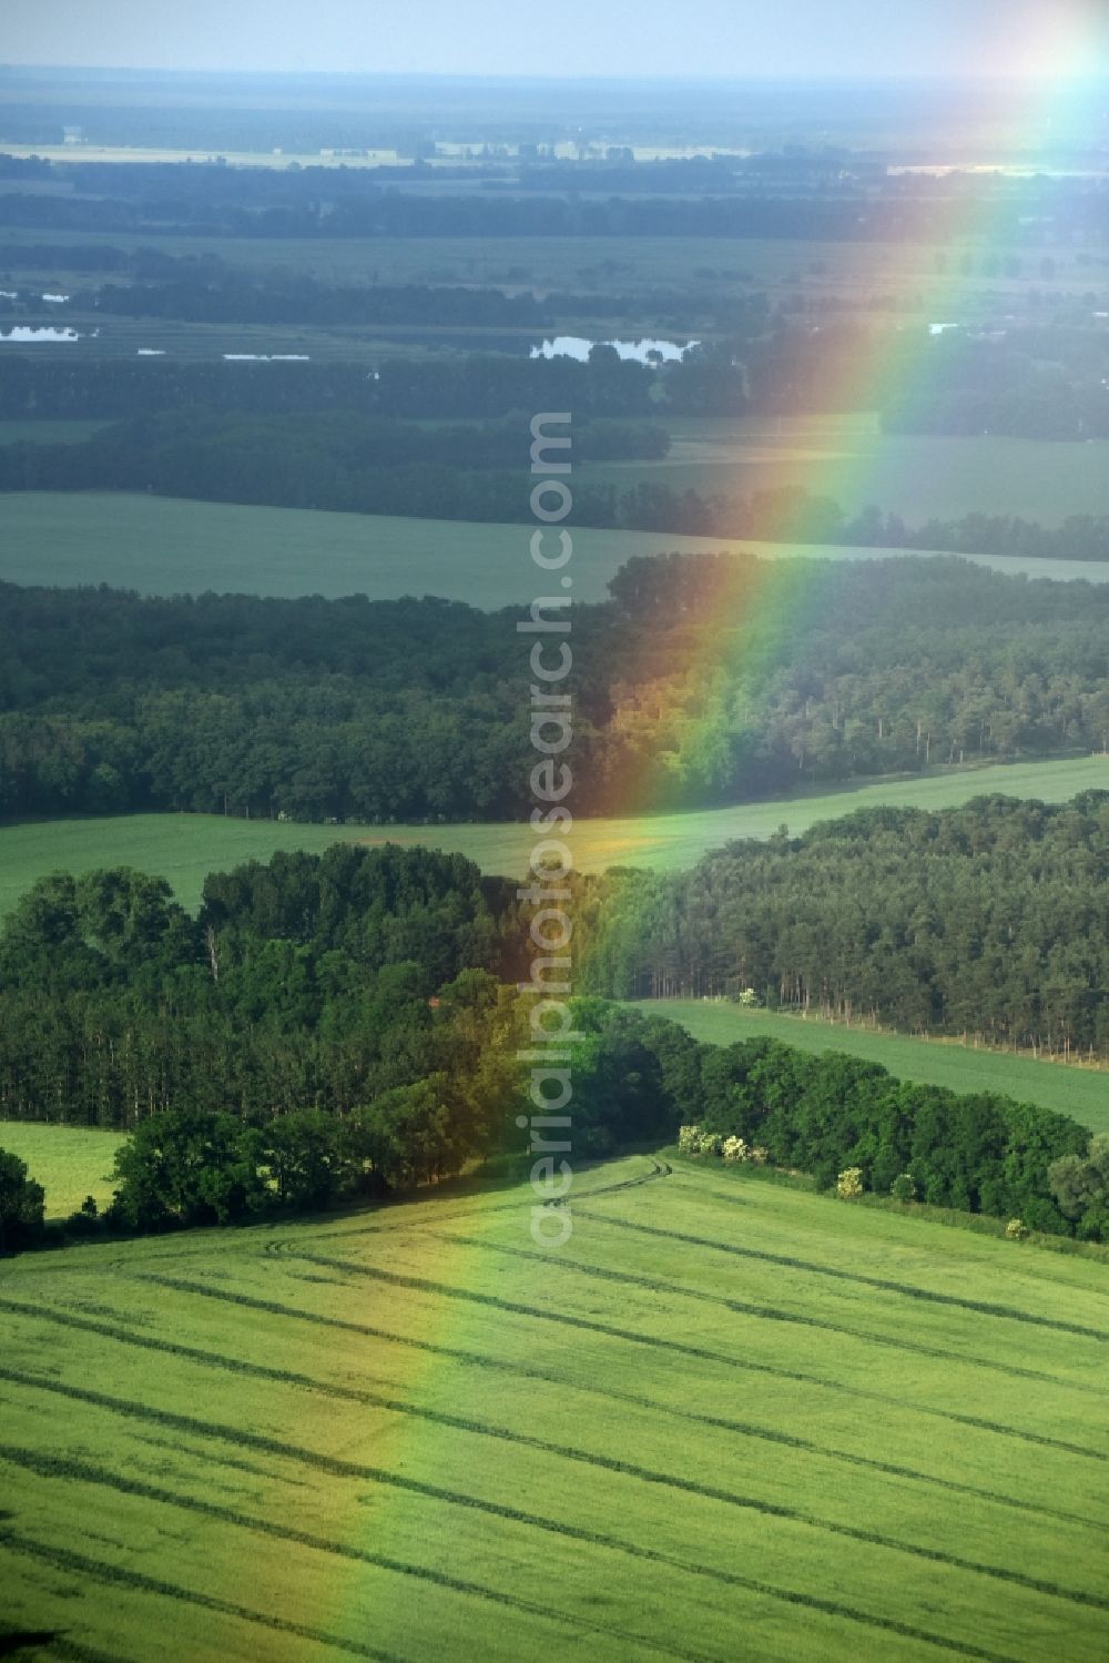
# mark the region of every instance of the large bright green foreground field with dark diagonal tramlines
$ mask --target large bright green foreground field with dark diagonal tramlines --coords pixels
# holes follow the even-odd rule
[[[718,1166],[0,1266],[12,1628],[326,1663],[1101,1663],[1109,1271]]]

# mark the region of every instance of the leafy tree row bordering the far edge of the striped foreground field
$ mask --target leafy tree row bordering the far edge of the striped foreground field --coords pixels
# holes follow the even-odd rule
[[[273,981],[266,986],[273,996]],[[0,1001],[5,996],[0,983]],[[500,1089],[481,1126],[466,1099],[474,1081],[459,1084],[442,1073],[384,1089],[367,1083],[354,1106],[263,1101],[253,1114],[195,1108],[186,1098],[153,1111],[141,1106],[125,1123],[131,1136],[116,1156],[113,1204],[98,1217],[86,1202],[63,1234],[319,1211],[431,1182],[494,1151],[524,1164],[515,1111],[527,1099],[507,1064],[514,1036],[510,1024],[490,1023],[494,994],[485,984],[482,996],[485,1009],[481,999],[467,1004],[481,1049],[471,1046],[466,1063],[479,1054],[489,1076],[490,1058],[499,1061]],[[497,1009],[507,1009],[504,994]],[[956,1096],[901,1083],[858,1058],[811,1056],[770,1039],[700,1044],[675,1023],[599,999],[575,999],[572,1016],[567,1141],[577,1159],[627,1142],[678,1137],[688,1147],[697,1131],[698,1149],[801,1171],[821,1187],[848,1169],[855,1192],[1016,1219],[1019,1231],[1109,1239],[1106,1139],[1091,1141],[1066,1116],[994,1093]],[[451,1019],[457,1024],[457,1008]],[[0,1247],[42,1239],[42,1199],[23,1162],[0,1151]]]

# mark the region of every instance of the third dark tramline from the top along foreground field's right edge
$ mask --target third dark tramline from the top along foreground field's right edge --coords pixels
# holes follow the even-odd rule
[[[402,1276],[399,1271],[382,1271],[379,1266],[357,1264],[352,1259],[326,1259],[323,1254],[289,1252],[289,1259],[319,1264],[324,1269],[341,1271],[349,1276],[362,1276],[369,1281],[386,1282],[391,1287],[412,1287],[421,1294],[436,1294],[442,1299],[459,1299],[467,1304],[489,1305],[494,1310],[505,1310],[510,1315],[529,1317],[535,1322],[555,1322],[562,1327],[579,1329],[585,1334],[600,1334],[605,1339],[625,1340],[632,1345],[645,1345],[648,1350],[665,1350],[678,1357],[690,1357],[697,1362],[715,1362],[725,1369],[737,1369],[745,1374],[766,1374],[776,1380],[795,1380],[800,1385],[816,1385],[825,1392],[836,1392],[841,1397],[860,1397],[871,1404],[909,1409],[914,1415],[931,1415],[938,1420],[951,1420],[954,1425],[974,1427],[978,1432],[996,1432],[999,1437],[1019,1438],[1023,1443],[1036,1443],[1041,1448],[1064,1450],[1081,1460],[1109,1462],[1109,1455],[1089,1448],[1086,1443],[1069,1443],[1066,1438],[1052,1438],[1044,1432],[1026,1432],[1023,1427],[1008,1427],[1001,1420],[984,1420],[979,1415],[961,1415],[954,1409],[933,1409],[931,1404],[916,1404],[901,1397],[890,1397],[886,1392],[873,1392],[865,1385],[845,1385],[840,1380],[828,1380],[820,1374],[808,1374],[801,1369],[781,1369],[768,1362],[752,1362],[747,1357],[735,1357],[728,1352],[712,1350],[708,1345],[690,1345],[687,1340],[662,1339],[657,1334],[637,1334],[635,1329],[619,1329],[612,1322],[597,1322],[594,1317],[572,1317],[564,1310],[547,1310],[542,1305],[524,1305],[497,1294],[479,1294],[471,1287],[452,1287],[449,1282],[432,1282],[427,1277]],[[38,1312],[37,1312],[38,1314]],[[1052,1380],[1054,1384],[1054,1380]]]

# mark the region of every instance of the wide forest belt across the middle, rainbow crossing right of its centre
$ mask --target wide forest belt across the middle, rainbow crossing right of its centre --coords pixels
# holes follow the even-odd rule
[[[579,813],[1109,748],[1109,585],[660,555],[610,589],[572,614]],[[0,813],[515,818],[522,617],[0,585]]]

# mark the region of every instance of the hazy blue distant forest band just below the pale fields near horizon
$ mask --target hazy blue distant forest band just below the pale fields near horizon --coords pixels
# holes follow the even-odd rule
[[[702,170],[695,173],[698,183]],[[795,166],[793,173],[800,170]],[[971,201],[989,213],[996,241],[1036,244],[1042,223],[1028,225],[1029,205],[1051,216],[1057,239],[1099,234],[1102,205],[1096,185],[1081,178],[1029,181],[838,178],[816,168],[813,178],[753,171],[730,180],[727,193],[672,190],[663,170],[653,193],[594,195],[589,173],[562,176],[562,190],[520,190],[502,180],[497,193],[406,190],[411,170],[391,178],[359,168],[228,168],[209,163],[53,163],[27,181],[57,180],[67,191],[0,193],[0,223],[25,229],[141,231],[145,236],[201,233],[249,238],[447,238],[447,236],[605,236],[605,238],[788,238],[796,241],[948,243],[966,226]],[[437,175],[442,180],[446,175]],[[557,175],[552,175],[557,178]],[[737,188],[738,186],[738,188]]]

